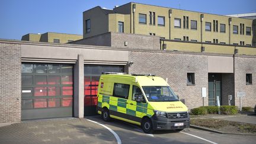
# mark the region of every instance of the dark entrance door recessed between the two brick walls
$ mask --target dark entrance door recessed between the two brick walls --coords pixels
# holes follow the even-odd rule
[[[222,104],[221,74],[209,73],[208,75],[208,105],[217,105],[216,97],[219,96],[220,105]]]

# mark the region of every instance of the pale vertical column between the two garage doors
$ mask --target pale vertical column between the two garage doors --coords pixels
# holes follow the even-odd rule
[[[74,69],[74,116],[84,117],[84,56],[78,55]]]

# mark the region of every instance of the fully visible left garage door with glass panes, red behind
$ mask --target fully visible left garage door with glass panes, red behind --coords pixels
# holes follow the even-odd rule
[[[23,63],[21,119],[47,119],[73,115],[73,65]]]

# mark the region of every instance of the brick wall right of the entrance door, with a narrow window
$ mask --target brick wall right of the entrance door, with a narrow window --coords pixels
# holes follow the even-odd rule
[[[246,84],[246,73],[252,73],[252,85]],[[256,104],[256,57],[235,56],[235,105],[239,107],[240,100],[236,92],[245,92],[242,107],[254,107]]]

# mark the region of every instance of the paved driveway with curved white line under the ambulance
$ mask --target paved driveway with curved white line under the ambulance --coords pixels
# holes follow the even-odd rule
[[[255,136],[223,135],[197,129],[143,133],[139,126],[100,116],[22,121],[0,127],[0,143],[255,143]]]

